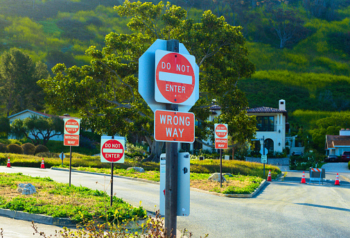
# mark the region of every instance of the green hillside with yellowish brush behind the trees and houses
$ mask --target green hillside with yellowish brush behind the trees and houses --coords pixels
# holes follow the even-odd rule
[[[296,110],[350,110],[350,1],[334,0],[331,5],[326,0],[310,0],[310,6],[301,0],[283,6],[282,1],[249,2],[253,1],[236,5],[236,1],[172,1],[189,10],[195,22],[202,10],[211,9],[229,24],[243,26],[256,74],[240,80],[238,87],[246,92],[250,107],[277,107],[278,100],[285,99],[295,123],[300,121],[297,114],[291,116]],[[128,33],[128,20],[118,17],[112,8],[121,3],[0,0],[0,53],[18,47],[49,69],[57,63],[85,65],[90,60],[85,56],[89,46],[102,49],[106,34]],[[281,9],[283,14],[292,13],[288,21],[294,25],[275,18],[275,10]],[[297,27],[299,35],[281,47],[278,24]]]

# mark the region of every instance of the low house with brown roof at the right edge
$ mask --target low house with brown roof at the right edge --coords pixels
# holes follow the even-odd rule
[[[350,129],[342,129],[339,135],[326,135],[326,155],[342,155],[350,151]]]

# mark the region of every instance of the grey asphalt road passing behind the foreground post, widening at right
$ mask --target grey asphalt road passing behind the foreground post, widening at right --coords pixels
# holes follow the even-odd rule
[[[0,167],[0,172],[48,176],[59,182],[69,178],[67,172],[51,169]],[[300,184],[301,174],[288,171],[284,181],[268,182],[254,198],[191,191],[191,214],[178,216],[177,228],[190,230],[193,237],[350,237],[350,185],[342,180],[340,186]],[[344,171],[344,175],[349,173]],[[289,178],[299,179],[293,182]],[[72,173],[73,185],[106,192],[109,180],[108,176]],[[114,192],[132,205],[142,201],[146,210],[158,209],[159,185],[114,178]]]

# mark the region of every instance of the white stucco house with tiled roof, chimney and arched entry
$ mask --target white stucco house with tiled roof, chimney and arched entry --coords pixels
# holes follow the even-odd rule
[[[283,148],[286,148],[286,130],[289,130],[286,101],[279,100],[278,108],[249,108],[247,115],[256,116],[256,139],[259,139],[254,141],[256,150],[263,151],[264,141],[269,152],[283,152]]]

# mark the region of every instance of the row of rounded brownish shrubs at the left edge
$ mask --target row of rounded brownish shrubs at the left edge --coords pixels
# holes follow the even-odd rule
[[[24,155],[36,155],[37,153],[48,152],[49,148],[39,144],[37,146],[26,143],[19,146],[18,144],[2,144],[0,143],[0,153],[14,153]]]

